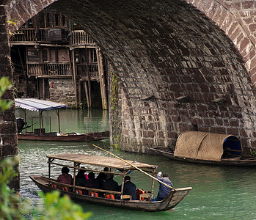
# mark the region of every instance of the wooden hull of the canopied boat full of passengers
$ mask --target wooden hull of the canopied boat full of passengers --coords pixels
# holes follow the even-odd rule
[[[54,191],[54,188],[48,186],[48,178],[41,176],[30,176],[34,183],[44,192]],[[125,208],[131,210],[140,210],[147,212],[156,212],[170,210],[180,203],[180,201],[186,197],[186,195],[191,191],[191,187],[188,188],[178,188],[172,190],[167,198],[158,202],[150,202],[144,200],[122,200],[122,199],[106,199],[103,197],[91,197],[84,194],[76,194],[73,192],[60,191],[62,195],[68,195],[71,199],[78,200],[81,202],[95,203],[98,205],[107,205],[116,208]]]

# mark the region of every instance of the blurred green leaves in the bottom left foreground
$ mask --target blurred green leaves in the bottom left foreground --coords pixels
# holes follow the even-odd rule
[[[84,213],[69,197],[61,197],[59,191],[48,194],[40,191],[42,205],[32,205],[29,200],[20,202],[20,196],[7,186],[17,176],[13,169],[17,164],[18,158],[5,158],[0,165],[0,219],[23,220],[24,216],[32,216],[32,220],[84,220],[92,216],[92,213]]]

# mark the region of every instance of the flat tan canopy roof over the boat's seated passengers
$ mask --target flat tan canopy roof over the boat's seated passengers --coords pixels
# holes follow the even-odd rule
[[[146,169],[157,169],[158,168],[158,166],[155,166],[155,165],[143,164],[143,163],[139,163],[137,161],[126,160],[129,163],[134,165],[134,166],[131,166],[130,164],[127,164],[118,158],[110,158],[110,157],[104,157],[104,156],[98,156],[98,155],[60,153],[60,154],[54,154],[54,155],[47,155],[47,157],[50,159],[72,161],[72,162],[75,162],[78,164],[108,166],[108,167],[117,168],[117,169],[136,169],[136,168],[134,168],[134,166],[139,167],[139,168],[146,168]]]

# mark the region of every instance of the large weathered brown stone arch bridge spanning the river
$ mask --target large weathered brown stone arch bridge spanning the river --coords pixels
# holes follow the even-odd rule
[[[256,150],[255,1],[1,0],[1,76],[12,74],[8,26],[49,4],[109,59],[111,135],[122,150],[174,148],[188,130],[233,134],[244,154]],[[17,152],[13,112],[1,115],[1,156]]]

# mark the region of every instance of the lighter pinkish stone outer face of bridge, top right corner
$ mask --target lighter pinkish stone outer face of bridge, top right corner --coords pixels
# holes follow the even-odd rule
[[[243,57],[252,82],[256,84],[255,1],[186,1],[204,12],[227,34]]]

